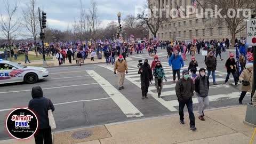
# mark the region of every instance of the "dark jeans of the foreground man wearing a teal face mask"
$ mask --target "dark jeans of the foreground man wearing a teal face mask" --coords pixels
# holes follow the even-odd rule
[[[187,105],[188,108],[188,115],[189,115],[189,121],[190,126],[195,126],[195,115],[193,113],[193,101],[192,98],[189,100],[182,100],[179,101],[179,115],[180,115],[180,121],[184,120],[184,107]]]

